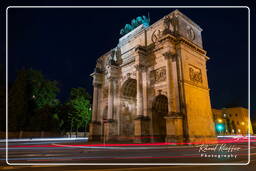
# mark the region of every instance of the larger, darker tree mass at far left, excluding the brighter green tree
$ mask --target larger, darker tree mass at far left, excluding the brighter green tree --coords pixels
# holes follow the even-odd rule
[[[9,129],[34,131],[46,130],[44,125],[52,127],[58,92],[57,82],[46,80],[41,72],[20,70],[9,92]]]

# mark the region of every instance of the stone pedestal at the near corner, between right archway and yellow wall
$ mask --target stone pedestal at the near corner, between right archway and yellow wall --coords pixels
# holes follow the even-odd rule
[[[180,114],[171,114],[166,119],[166,142],[182,143],[183,136],[183,116]]]

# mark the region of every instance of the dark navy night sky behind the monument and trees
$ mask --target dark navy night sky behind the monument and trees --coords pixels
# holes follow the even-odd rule
[[[9,82],[21,68],[32,68],[59,82],[62,101],[73,87],[92,94],[89,75],[96,59],[118,44],[120,29],[148,13],[153,24],[175,9],[9,9]],[[248,107],[248,10],[179,10],[203,29],[212,106]]]

